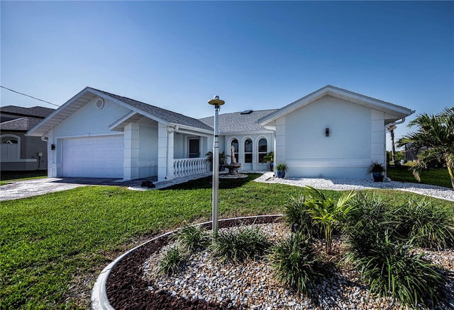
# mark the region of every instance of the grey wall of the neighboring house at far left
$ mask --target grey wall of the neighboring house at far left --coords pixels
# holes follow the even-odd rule
[[[47,170],[48,152],[47,142],[40,137],[28,137],[24,132],[1,132],[1,135],[13,135],[20,139],[21,148],[19,158],[16,160],[1,159],[1,171],[33,171]],[[38,154],[42,156],[38,156]]]

